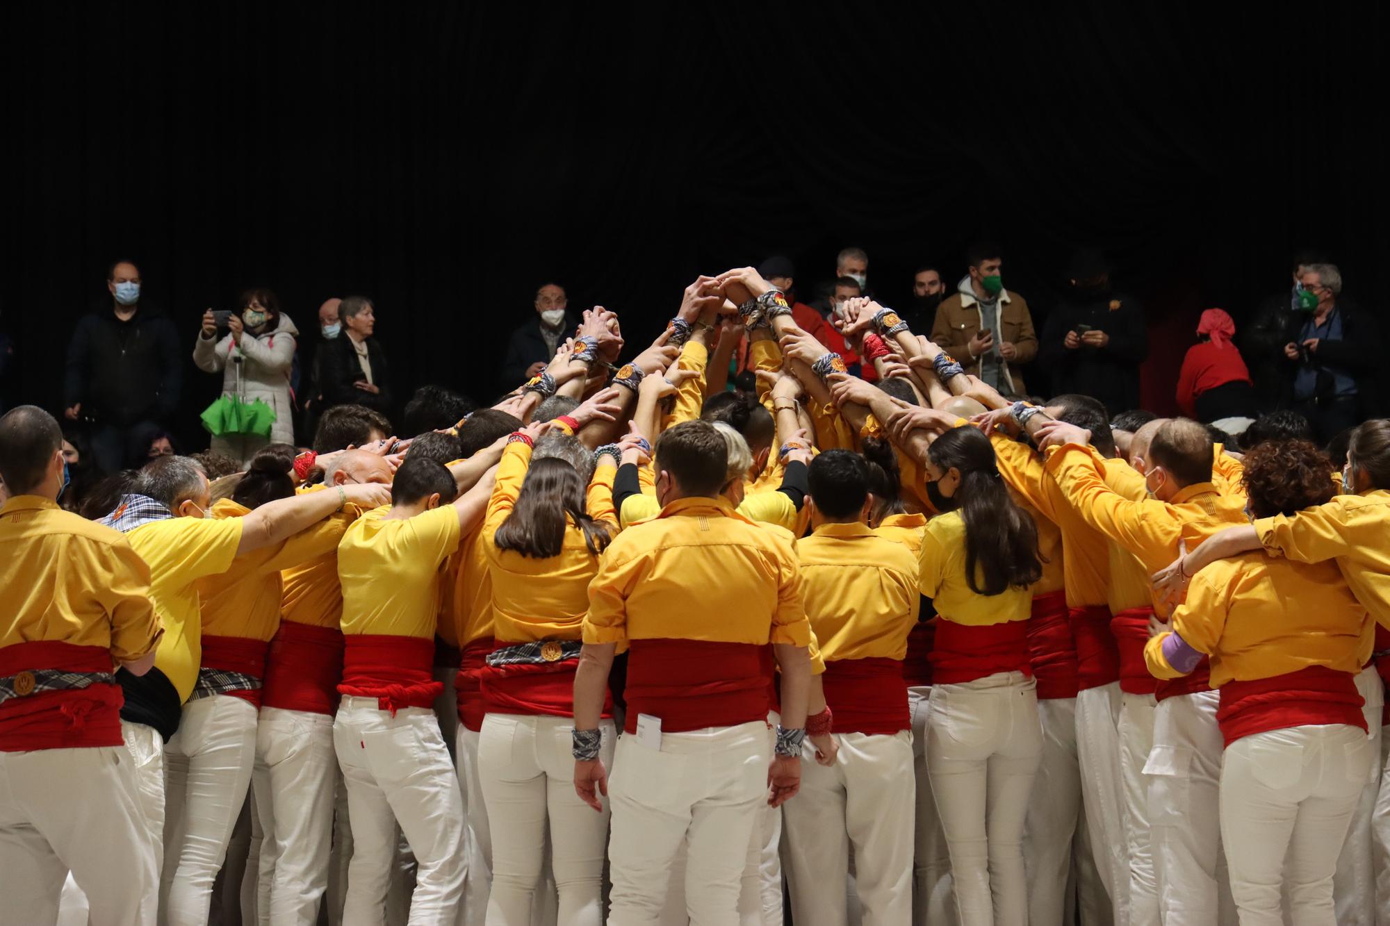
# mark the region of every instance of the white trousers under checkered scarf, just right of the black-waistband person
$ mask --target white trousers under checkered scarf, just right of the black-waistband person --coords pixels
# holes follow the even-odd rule
[[[164,752],[168,791],[160,909],[171,926],[202,926],[252,781],[256,705],[232,695],[189,701]],[[239,891],[240,882],[227,890]]]

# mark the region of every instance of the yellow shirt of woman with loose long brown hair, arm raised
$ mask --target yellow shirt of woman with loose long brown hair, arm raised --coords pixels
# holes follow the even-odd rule
[[[492,631],[502,642],[578,640],[580,623],[589,608],[589,580],[599,567],[598,556],[584,542],[584,531],[566,519],[560,553],[546,559],[499,549],[495,541],[516,506],[530,464],[531,448],[521,441],[507,445],[482,521],[480,544],[492,581]]]

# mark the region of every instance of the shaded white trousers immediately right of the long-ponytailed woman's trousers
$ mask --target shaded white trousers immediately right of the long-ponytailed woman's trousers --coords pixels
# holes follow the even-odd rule
[[[1081,772],[1076,763],[1076,699],[1038,701],[1042,759],[1027,820],[1023,868],[1029,879],[1029,923],[1062,926],[1072,880],[1072,841],[1081,813]],[[1106,901],[1108,904],[1109,901]]]

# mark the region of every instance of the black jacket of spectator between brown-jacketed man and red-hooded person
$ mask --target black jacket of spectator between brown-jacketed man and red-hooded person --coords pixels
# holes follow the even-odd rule
[[[1111,304],[1118,302],[1118,309]],[[1066,332],[1079,324],[1104,331],[1104,348],[1068,350]],[[1148,359],[1144,310],[1125,293],[1098,295],[1061,303],[1048,316],[1038,341],[1037,366],[1052,374],[1052,393],[1080,392],[1105,403],[1113,416],[1140,407],[1138,364]]]

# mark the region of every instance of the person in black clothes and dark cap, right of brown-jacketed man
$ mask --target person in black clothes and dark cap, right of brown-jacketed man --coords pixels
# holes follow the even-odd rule
[[[1148,357],[1144,310],[1115,292],[1095,250],[1079,250],[1068,274],[1070,292],[1042,325],[1038,355],[1052,373],[1054,393],[1090,395],[1109,414],[1138,405],[1138,364]]]

